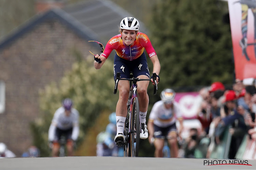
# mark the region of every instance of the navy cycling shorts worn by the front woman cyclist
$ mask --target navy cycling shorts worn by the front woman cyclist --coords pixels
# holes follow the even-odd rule
[[[125,60],[115,54],[114,79],[116,79],[117,72],[120,72],[120,78],[130,79],[130,71],[133,72],[133,77],[135,78],[137,78],[139,75],[146,75],[148,78],[150,78],[145,52],[143,52],[139,58],[133,61]]]

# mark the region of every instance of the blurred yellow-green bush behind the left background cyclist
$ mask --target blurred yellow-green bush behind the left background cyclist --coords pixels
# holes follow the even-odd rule
[[[64,98],[71,98],[74,101],[74,108],[80,113],[78,145],[104,109],[115,110],[118,95],[113,94],[113,63],[106,61],[100,70],[96,70],[93,61],[87,59],[74,63],[72,70],[67,72],[60,82],[53,82],[40,90],[42,114],[32,123],[31,129],[34,145],[41,150],[41,156],[49,156],[48,129],[56,109],[61,106]]]

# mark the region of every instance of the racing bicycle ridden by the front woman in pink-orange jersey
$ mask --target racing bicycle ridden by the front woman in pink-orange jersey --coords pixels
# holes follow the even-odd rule
[[[117,142],[117,146],[124,146],[124,157],[137,157],[139,155],[139,142],[141,129],[139,100],[137,95],[138,81],[151,81],[151,79],[133,78],[133,72],[130,72],[130,79],[120,79],[120,73],[116,73],[114,94],[117,92],[119,80],[128,80],[130,82],[130,92],[127,101],[127,117],[125,121],[124,136],[125,140]],[[153,73],[154,95],[157,92],[156,73]],[[138,113],[138,114],[137,114]]]

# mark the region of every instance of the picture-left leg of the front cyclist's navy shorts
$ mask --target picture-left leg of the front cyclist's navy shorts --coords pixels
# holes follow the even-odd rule
[[[131,62],[123,58],[120,58],[117,54],[114,57],[114,79],[116,79],[116,73],[120,72],[120,78],[130,78],[130,65]]]

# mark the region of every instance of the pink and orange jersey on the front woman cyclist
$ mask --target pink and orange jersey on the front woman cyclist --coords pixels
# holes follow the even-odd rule
[[[118,34],[109,40],[102,55],[108,58],[112,50],[115,50],[119,57],[132,61],[140,57],[144,49],[149,57],[156,55],[150,39],[146,34],[138,32],[136,40],[131,46],[126,46],[121,39],[121,34]]]

